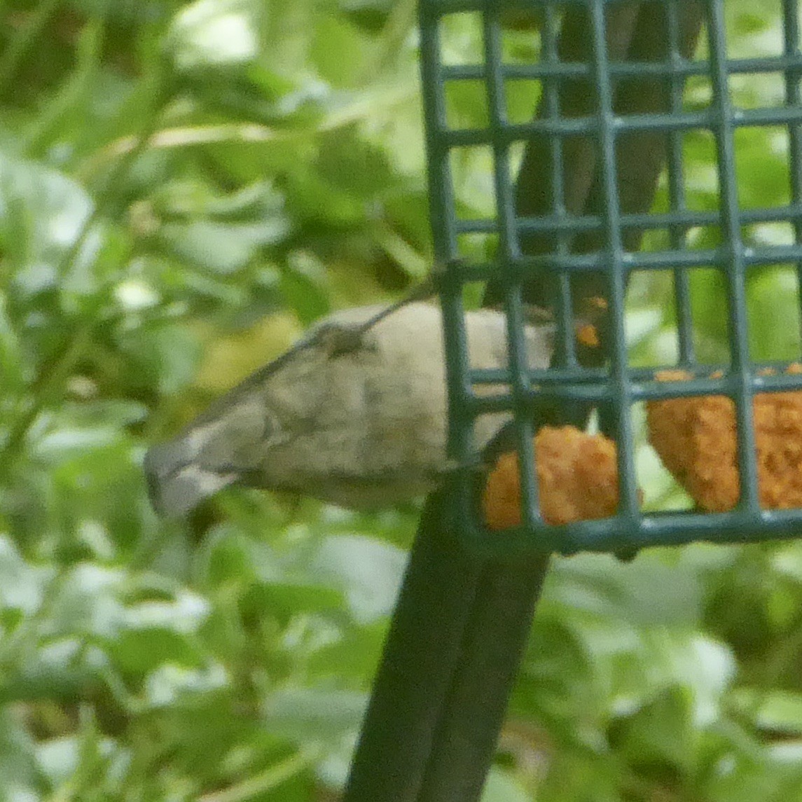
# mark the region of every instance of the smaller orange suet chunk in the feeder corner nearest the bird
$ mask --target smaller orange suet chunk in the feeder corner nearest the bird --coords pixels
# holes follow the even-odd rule
[[[535,437],[537,480],[547,524],[606,518],[618,508],[615,444],[573,426],[543,427]],[[482,499],[489,529],[520,525],[518,456],[500,456]]]

